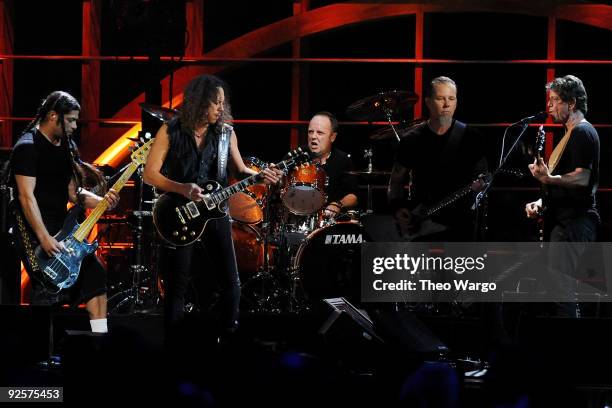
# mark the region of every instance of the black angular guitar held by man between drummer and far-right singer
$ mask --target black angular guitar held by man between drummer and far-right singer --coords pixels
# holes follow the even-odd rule
[[[422,236],[446,231],[448,226],[433,221],[431,216],[453,204],[460,198],[465,197],[469,193],[481,191],[490,181],[490,177],[490,175],[482,175],[467,186],[460,188],[433,205],[426,206],[424,204],[419,204],[410,211],[412,215],[411,228],[403,228],[397,224],[402,239],[405,241],[414,241]]]

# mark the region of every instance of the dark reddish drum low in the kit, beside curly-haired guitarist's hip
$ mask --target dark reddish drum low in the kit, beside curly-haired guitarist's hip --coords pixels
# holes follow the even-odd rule
[[[264,267],[264,244],[259,229],[232,221],[232,238],[240,278],[245,282]],[[268,262],[272,262],[273,247],[268,245]]]

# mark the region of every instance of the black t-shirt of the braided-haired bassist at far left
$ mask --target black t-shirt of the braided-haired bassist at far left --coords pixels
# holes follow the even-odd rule
[[[11,169],[14,175],[36,177],[34,197],[45,226],[50,234],[55,234],[66,216],[68,185],[73,176],[67,149],[55,146],[38,130],[32,130],[15,144]]]

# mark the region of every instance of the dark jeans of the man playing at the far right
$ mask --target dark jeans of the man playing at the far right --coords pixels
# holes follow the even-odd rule
[[[577,304],[571,301],[576,292],[576,271],[587,243],[597,236],[597,222],[585,215],[558,221],[553,226],[548,251],[548,291],[558,299],[555,314],[578,317]]]

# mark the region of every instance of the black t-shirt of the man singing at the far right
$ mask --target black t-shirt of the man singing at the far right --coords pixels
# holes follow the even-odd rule
[[[588,122],[576,125],[553,175],[571,173],[581,167],[591,170],[587,187],[546,186],[547,215],[564,220],[591,214],[599,219],[595,192],[599,184],[599,136]]]

